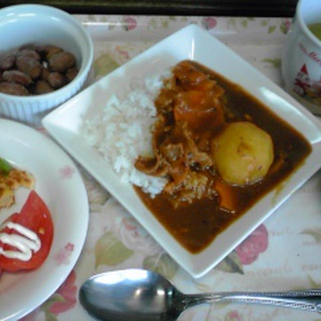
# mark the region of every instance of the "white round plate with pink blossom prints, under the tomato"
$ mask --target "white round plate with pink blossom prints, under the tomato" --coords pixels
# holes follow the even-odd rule
[[[45,262],[36,270],[0,276],[0,319],[17,320],[44,302],[66,279],[83,247],[89,219],[84,182],[71,158],[45,134],[0,119],[0,157],[32,173],[35,191],[47,204],[54,239]],[[0,223],[20,211],[29,190],[16,192],[16,204],[0,210]]]

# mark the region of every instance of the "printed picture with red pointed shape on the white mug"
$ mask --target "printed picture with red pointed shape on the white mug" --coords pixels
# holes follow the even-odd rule
[[[303,64],[296,74],[293,90],[301,97],[321,106],[321,77],[318,81],[312,81],[309,77],[306,64]]]

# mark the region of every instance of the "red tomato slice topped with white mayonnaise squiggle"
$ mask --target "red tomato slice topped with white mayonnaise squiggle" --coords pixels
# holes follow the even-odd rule
[[[28,261],[22,261],[16,258],[7,258],[0,254],[0,270],[17,272],[39,267],[49,254],[54,234],[51,214],[45,202],[33,190],[30,192],[21,212],[11,215],[6,222],[7,221],[23,225],[24,227],[34,231],[40,238],[41,248],[37,252],[34,252],[31,259]],[[0,232],[19,234],[16,230],[9,229],[8,227]],[[3,244],[1,241],[0,247],[3,247],[4,250],[17,250],[11,245]]]

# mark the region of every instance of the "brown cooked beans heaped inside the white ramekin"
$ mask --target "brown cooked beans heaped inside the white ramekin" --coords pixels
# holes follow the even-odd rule
[[[0,57],[0,91],[44,94],[61,88],[78,73],[75,56],[54,45],[22,45]]]

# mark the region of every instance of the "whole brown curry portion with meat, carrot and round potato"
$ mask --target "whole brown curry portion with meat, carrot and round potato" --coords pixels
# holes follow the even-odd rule
[[[153,156],[136,169],[169,180],[150,198],[156,218],[189,251],[203,250],[285,179],[311,147],[262,103],[204,66],[183,61],[155,99]]]

